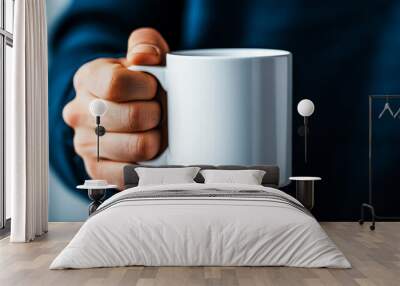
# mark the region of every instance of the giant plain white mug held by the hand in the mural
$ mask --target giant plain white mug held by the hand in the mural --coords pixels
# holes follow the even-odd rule
[[[168,53],[165,67],[129,69],[154,75],[167,92],[168,148],[148,164],[271,164],[288,183],[291,53],[187,50]]]

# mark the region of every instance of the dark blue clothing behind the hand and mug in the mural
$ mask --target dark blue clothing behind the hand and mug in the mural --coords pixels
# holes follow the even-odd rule
[[[51,34],[50,163],[71,188],[87,177],[73,150],[73,131],[61,117],[75,95],[73,74],[94,58],[123,55],[138,27],[158,29],[172,50],[285,49],[294,55],[293,102],[309,98],[316,105],[307,167],[296,134],[302,118],[293,106],[293,174],[323,177],[314,209],[319,219],[357,219],[367,199],[368,94],[400,90],[398,15],[400,1],[379,0],[74,1]],[[399,215],[400,121],[385,122],[376,135],[381,140],[377,175],[384,182],[376,196],[380,211]]]

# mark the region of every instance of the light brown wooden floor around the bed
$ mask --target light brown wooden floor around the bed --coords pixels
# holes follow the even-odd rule
[[[28,244],[0,241],[0,285],[400,285],[400,223],[322,223],[352,269],[289,267],[123,267],[48,270],[81,223],[51,223]]]

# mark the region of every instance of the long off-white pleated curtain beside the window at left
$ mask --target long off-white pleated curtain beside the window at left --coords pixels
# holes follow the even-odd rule
[[[13,95],[6,111],[12,242],[47,232],[48,119],[45,0],[15,1]]]

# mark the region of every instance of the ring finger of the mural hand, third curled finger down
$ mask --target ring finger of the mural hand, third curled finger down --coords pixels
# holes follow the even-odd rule
[[[95,159],[97,156],[97,137],[94,129],[75,130],[74,147],[83,158]],[[138,162],[154,158],[160,150],[159,130],[140,133],[106,132],[100,138],[100,157],[119,162]]]

